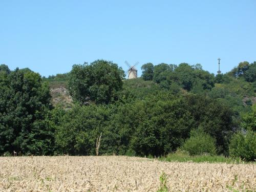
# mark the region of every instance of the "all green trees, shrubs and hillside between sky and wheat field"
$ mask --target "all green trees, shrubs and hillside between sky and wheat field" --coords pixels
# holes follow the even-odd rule
[[[142,66],[142,78],[123,80],[110,61],[74,65],[41,78],[0,66],[0,155],[255,157],[255,62],[214,76],[200,64]],[[68,88],[69,108],[50,103],[49,86]],[[236,147],[238,146],[238,147]],[[253,151],[254,150],[254,151]],[[190,157],[186,155],[186,158]],[[192,158],[192,157],[190,157]],[[195,159],[195,161],[197,161]]]

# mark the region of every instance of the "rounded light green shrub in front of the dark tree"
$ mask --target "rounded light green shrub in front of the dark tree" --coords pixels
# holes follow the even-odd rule
[[[189,155],[216,154],[215,139],[204,133],[201,129],[190,132],[190,138],[187,139],[182,150],[187,151]]]

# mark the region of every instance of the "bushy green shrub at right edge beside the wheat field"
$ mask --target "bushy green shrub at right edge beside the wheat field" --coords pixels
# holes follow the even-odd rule
[[[256,134],[248,131],[246,135],[241,132],[234,134],[229,144],[229,155],[231,157],[241,157],[246,161],[256,159]]]

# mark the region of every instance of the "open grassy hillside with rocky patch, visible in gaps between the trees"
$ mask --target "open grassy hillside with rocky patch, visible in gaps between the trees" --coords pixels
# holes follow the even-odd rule
[[[59,79],[59,75],[54,78],[45,78],[44,80],[49,83],[53,105],[60,104],[69,107],[72,104],[72,98],[67,90],[68,76]],[[125,79],[123,81],[123,88],[130,90],[137,99],[144,99],[161,90],[166,90],[161,87],[161,83],[156,83],[153,80],[146,81],[141,77],[137,79]],[[170,88],[170,90],[175,93],[187,92],[179,86]],[[228,103],[230,108],[240,113],[248,112],[250,111],[250,106],[256,103],[256,82],[247,82],[241,78],[228,77],[226,82],[216,82],[214,87],[204,92],[204,94]]]

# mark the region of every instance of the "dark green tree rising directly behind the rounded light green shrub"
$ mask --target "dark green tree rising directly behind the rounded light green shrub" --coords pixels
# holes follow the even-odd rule
[[[205,133],[216,139],[217,153],[227,155],[228,138],[237,129],[233,121],[234,112],[217,99],[194,94],[184,97],[184,108],[194,117],[193,127],[202,127]]]

